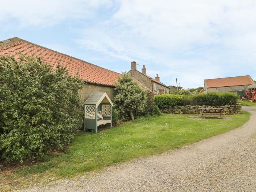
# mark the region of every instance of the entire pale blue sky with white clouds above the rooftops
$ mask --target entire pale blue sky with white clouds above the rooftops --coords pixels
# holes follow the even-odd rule
[[[0,41],[19,37],[116,72],[146,66],[166,85],[256,79],[255,0],[9,0]]]

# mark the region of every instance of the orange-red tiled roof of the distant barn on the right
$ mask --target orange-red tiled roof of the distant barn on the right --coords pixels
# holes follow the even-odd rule
[[[207,88],[212,87],[229,87],[229,86],[240,86],[253,84],[253,80],[249,75],[227,77],[218,79],[206,79]]]

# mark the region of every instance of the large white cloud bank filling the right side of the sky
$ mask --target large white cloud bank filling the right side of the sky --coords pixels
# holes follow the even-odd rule
[[[146,64],[166,84],[247,75],[256,59],[255,1],[119,1],[108,20],[76,41],[110,57]],[[138,62],[137,62],[138,63]],[[151,70],[149,70],[151,69]],[[240,74],[244,72],[245,74]],[[255,72],[255,71],[254,71]]]

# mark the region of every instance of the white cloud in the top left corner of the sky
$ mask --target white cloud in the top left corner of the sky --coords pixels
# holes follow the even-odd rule
[[[99,6],[110,0],[10,0],[1,3],[0,24],[5,28],[46,27],[69,19],[94,16]]]

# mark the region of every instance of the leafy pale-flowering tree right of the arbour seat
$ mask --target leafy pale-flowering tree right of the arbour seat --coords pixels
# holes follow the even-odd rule
[[[129,74],[123,72],[116,82],[115,90],[117,94],[113,103],[121,121],[134,120],[145,112],[147,93]]]

